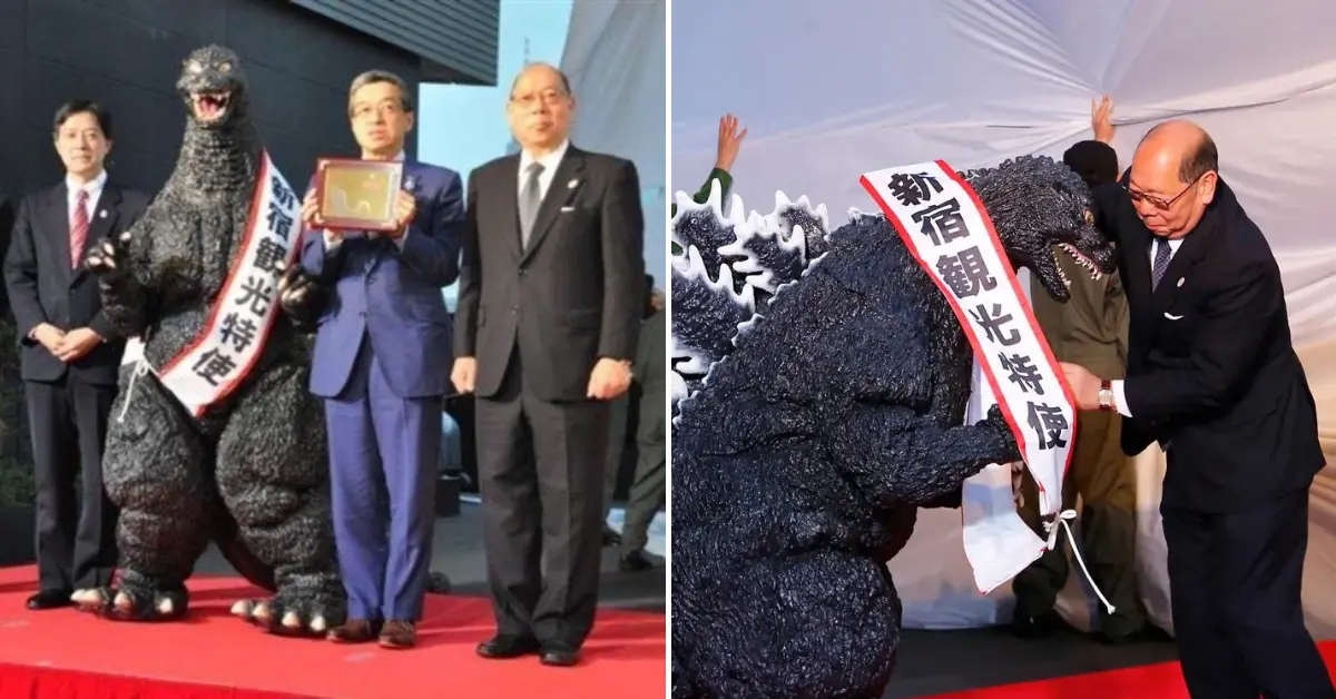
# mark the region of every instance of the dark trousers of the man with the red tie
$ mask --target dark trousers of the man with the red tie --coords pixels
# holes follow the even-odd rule
[[[39,584],[59,592],[110,585],[116,507],[103,489],[102,450],[116,386],[65,378],[28,381],[24,392],[37,491]]]

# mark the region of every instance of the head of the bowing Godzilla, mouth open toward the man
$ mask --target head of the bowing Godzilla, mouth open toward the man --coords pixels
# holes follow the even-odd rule
[[[1071,298],[1059,255],[1094,279],[1114,271],[1113,247],[1094,226],[1090,190],[1066,164],[1026,155],[966,176],[1011,265],[1029,269],[1054,299]]]

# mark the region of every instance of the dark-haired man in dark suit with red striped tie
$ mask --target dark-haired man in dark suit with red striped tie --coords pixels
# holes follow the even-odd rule
[[[148,198],[108,182],[111,143],[111,115],[98,104],[73,100],[56,111],[65,179],[24,198],[4,262],[36,468],[39,591],[29,609],[65,607],[75,591],[110,585],[116,565],[116,511],[103,492],[102,449],[124,338],[103,314],[83,261],[132,226]]]

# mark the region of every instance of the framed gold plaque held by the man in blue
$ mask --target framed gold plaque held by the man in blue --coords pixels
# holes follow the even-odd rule
[[[321,158],[315,163],[315,200],[330,230],[393,231],[402,186],[402,160]]]

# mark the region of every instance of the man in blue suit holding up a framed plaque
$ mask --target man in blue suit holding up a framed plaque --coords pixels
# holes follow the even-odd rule
[[[403,80],[382,71],[359,75],[349,116],[363,159],[403,159],[414,116]],[[457,172],[406,160],[403,182],[393,233],[322,230],[314,192],[302,208],[302,267],[334,287],[311,366],[311,392],[325,398],[334,533],[349,601],[347,623],[329,638],[378,638],[387,648],[417,643],[426,595],[452,362],[441,289],[458,275],[464,225]]]

